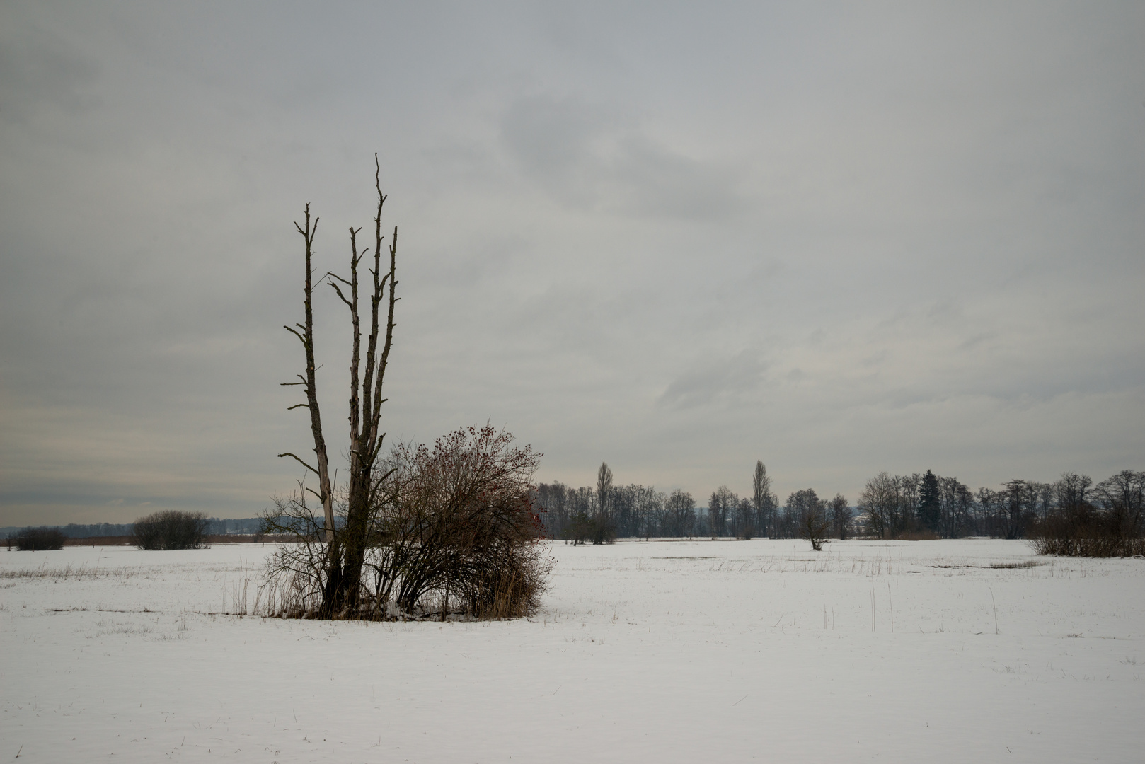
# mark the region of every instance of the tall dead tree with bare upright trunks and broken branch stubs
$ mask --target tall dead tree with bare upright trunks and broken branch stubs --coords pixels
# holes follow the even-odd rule
[[[310,411],[310,432],[314,438],[314,451],[316,455],[316,466],[311,466],[305,459],[292,452],[279,454],[278,456],[290,456],[300,462],[309,472],[318,478],[318,490],[302,487],[302,502],[305,504],[305,493],[309,491],[317,496],[323,507],[323,535],[326,549],[324,559],[324,577],[322,586],[323,617],[333,617],[346,609],[354,609],[358,606],[361,590],[362,565],[365,554],[366,535],[369,526],[370,505],[374,498],[374,491],[379,481],[374,480],[373,467],[381,450],[385,433],[380,431],[382,381],[386,376],[386,365],[389,360],[389,351],[394,338],[394,306],[397,302],[395,277],[397,262],[397,227],[394,227],[393,237],[389,242],[389,268],[382,270],[381,252],[381,210],[386,203],[386,195],[381,192],[381,164],[378,155],[374,155],[374,189],[378,194],[378,211],[374,216],[374,246],[373,268],[369,269],[372,276],[370,288],[370,333],[366,339],[365,368],[362,368],[362,325],[360,315],[360,283],[358,266],[362,259],[370,254],[368,247],[358,249],[357,234],[361,229],[350,228],[350,271],[349,278],[327,273],[326,283],[334,290],[339,299],[346,304],[350,312],[350,324],[353,326],[353,346],[350,351],[350,438],[349,438],[349,480],[346,494],[346,517],[342,527],[338,527],[333,511],[333,489],[330,481],[330,460],[326,454],[326,442],[322,431],[322,417],[318,409],[317,380],[314,359],[314,309],[313,309],[313,267],[311,254],[314,250],[314,236],[318,229],[318,219],[310,222],[310,205],[306,206],[306,226],[294,223],[295,229],[302,236],[306,244],[306,279],[303,286],[306,323],[294,324],[294,328],[285,329],[293,333],[302,342],[306,352],[306,375],[299,375],[301,381],[284,383],[285,385],[301,385],[306,392],[306,403],[299,403],[291,408],[306,408]],[[387,289],[388,288],[388,289]],[[349,292],[349,297],[347,297]],[[382,301],[388,294],[388,310],[386,313],[385,337],[380,338],[380,312]],[[298,331],[298,330],[301,330]],[[378,342],[382,340],[381,354],[378,355]]]

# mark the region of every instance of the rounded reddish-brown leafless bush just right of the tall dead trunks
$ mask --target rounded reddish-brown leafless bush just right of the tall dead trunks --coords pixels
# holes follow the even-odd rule
[[[390,452],[377,507],[376,535],[385,544],[368,562],[376,611],[392,596],[400,612],[413,614],[423,599],[450,592],[475,617],[536,607],[548,572],[531,499],[539,457],[512,440],[489,426],[469,427],[437,439],[433,449]]]

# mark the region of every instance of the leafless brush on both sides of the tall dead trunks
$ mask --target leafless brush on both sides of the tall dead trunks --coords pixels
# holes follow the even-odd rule
[[[421,617],[431,604],[444,616],[450,598],[472,617],[535,609],[551,567],[531,499],[538,455],[512,440],[487,426],[455,431],[432,449],[395,447],[372,491],[358,605],[332,617]],[[264,612],[318,614],[330,585],[326,556],[345,533],[345,502],[338,517],[330,544],[303,490],[275,499],[264,530],[299,543],[273,556]]]

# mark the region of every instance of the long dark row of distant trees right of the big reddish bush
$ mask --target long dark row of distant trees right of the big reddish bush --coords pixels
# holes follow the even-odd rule
[[[692,494],[653,486],[615,486],[607,463],[595,486],[540,483],[536,502],[546,533],[572,543],[608,543],[618,537],[796,538],[1043,538],[1049,536],[1145,536],[1145,472],[1122,470],[1095,482],[1074,472],[1053,482],[1009,480],[1000,488],[972,490],[957,478],[924,473],[869,479],[852,505],[842,494],[821,498],[813,488],[785,502],[772,491],[763,462],[752,473],[752,493],[727,486],[706,506]],[[814,542],[813,542],[814,543]]]

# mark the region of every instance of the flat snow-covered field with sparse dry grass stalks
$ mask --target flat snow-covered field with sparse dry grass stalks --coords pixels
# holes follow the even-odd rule
[[[269,552],[0,550],[0,759],[1145,761],[1140,559],[558,543],[529,621],[220,614]]]

